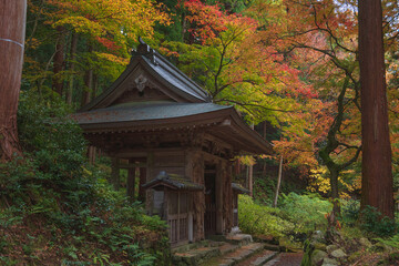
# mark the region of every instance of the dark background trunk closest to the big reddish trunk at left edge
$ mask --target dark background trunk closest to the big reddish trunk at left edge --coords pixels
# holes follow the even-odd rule
[[[65,33],[63,27],[57,27],[59,40],[55,45],[54,64],[53,64],[53,90],[62,96],[63,82],[60,76],[64,66]]]

